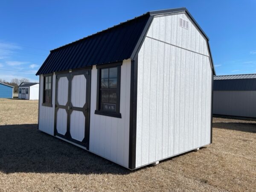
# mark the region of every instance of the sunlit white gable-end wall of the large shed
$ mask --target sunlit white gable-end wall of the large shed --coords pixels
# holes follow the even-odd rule
[[[153,19],[139,52],[136,167],[210,143],[212,70],[205,39],[194,24],[179,26],[186,15],[164,17]]]

